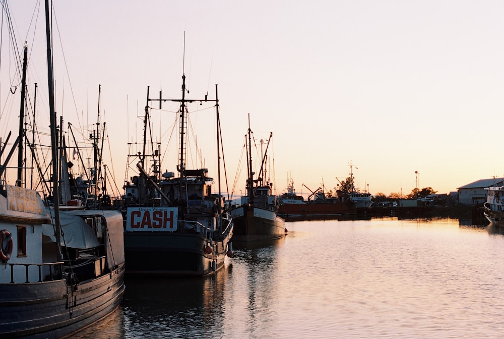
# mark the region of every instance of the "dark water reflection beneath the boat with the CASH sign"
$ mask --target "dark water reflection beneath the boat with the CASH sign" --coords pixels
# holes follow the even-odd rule
[[[227,268],[204,278],[129,279],[123,299],[124,328],[154,337],[195,337],[222,327]]]

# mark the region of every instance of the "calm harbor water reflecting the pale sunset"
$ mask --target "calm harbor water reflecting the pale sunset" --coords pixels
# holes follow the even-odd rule
[[[504,236],[459,220],[303,221],[214,277],[127,279],[80,338],[498,338]]]

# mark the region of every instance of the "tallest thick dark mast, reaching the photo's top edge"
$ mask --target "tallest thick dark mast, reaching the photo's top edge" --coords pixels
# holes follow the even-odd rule
[[[57,161],[57,138],[56,138],[56,112],[54,110],[54,83],[52,76],[52,50],[51,32],[49,26],[49,0],[45,0],[45,33],[47,40],[47,83],[49,89],[49,115],[51,123],[51,151],[52,151],[52,201],[54,204],[54,237],[56,238],[56,248],[58,259],[61,260],[61,225],[59,223],[59,190],[58,190],[58,161]]]

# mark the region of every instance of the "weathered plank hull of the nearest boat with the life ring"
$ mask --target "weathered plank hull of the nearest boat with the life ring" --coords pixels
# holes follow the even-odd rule
[[[8,266],[8,265],[7,265]],[[0,285],[0,337],[53,338],[112,312],[124,294],[124,264],[78,284],[65,280]]]

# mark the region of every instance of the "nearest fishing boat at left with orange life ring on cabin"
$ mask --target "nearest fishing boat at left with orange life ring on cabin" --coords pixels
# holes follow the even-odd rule
[[[68,335],[112,312],[124,293],[121,213],[59,208],[48,0],[45,14],[52,202],[49,206],[37,191],[21,187],[19,179],[16,186],[0,183],[2,338]],[[0,166],[0,172],[5,171],[12,153]]]

